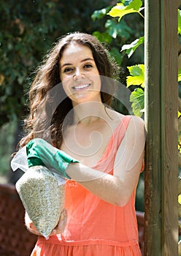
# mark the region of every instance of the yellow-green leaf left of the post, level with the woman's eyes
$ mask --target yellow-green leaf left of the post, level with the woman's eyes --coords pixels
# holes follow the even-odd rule
[[[130,75],[127,76],[126,83],[129,86],[142,86],[145,87],[145,65],[138,64],[128,67]]]

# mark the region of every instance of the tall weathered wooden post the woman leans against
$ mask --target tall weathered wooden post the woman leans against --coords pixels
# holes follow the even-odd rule
[[[145,255],[177,256],[177,0],[145,0]]]

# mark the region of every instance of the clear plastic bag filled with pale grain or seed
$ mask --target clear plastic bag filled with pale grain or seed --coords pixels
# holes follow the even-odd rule
[[[64,204],[65,180],[45,166],[28,167],[22,148],[12,159],[12,170],[25,171],[15,184],[28,217],[45,238],[58,224]]]

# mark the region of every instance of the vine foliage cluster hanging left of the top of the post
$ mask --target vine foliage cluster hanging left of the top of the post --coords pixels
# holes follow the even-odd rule
[[[105,20],[104,27],[101,29],[101,31],[94,31],[93,34],[101,41],[106,42],[107,46],[109,47],[109,51],[112,54],[112,56],[115,58],[115,60],[118,62],[118,64],[125,69],[128,64],[132,64],[131,60],[128,59],[128,56],[126,56],[125,52],[123,52],[123,48],[120,49],[120,45],[126,45],[128,46],[127,53],[131,53],[131,55],[134,53],[136,48],[141,44],[141,39],[137,39],[136,42],[129,46],[128,43],[132,42],[132,40],[136,37],[143,36],[144,31],[143,27],[144,24],[140,22],[140,15],[128,15],[128,18],[115,18],[119,17],[120,13],[124,11],[124,16],[128,14],[131,10],[131,12],[135,12],[135,14],[138,13],[141,14],[141,10],[139,7],[137,7],[137,10],[133,10],[133,5],[139,3],[138,1],[121,1],[122,3],[116,5],[116,7],[106,7],[101,10],[96,10],[93,12],[93,15],[91,16],[93,20],[101,20],[102,18],[107,18],[106,16],[109,15],[109,18]],[[121,10],[122,8],[122,10]],[[127,8],[127,10],[126,10]],[[114,11],[113,11],[114,10]],[[142,9],[143,10],[143,9]],[[114,15],[111,15],[112,12]],[[114,16],[114,17],[112,17]],[[123,15],[122,15],[123,17]],[[119,22],[118,22],[119,20]],[[125,49],[124,49],[125,50]],[[135,58],[141,62],[143,61],[143,55],[140,54],[139,50],[137,51],[137,54],[135,55]],[[123,78],[122,78],[123,79]]]

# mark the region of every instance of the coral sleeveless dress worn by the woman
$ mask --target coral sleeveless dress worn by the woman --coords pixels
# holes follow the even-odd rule
[[[113,174],[115,155],[130,118],[125,116],[116,127],[103,156],[93,168]],[[135,194],[136,188],[126,206],[114,206],[76,181],[66,181],[66,229],[48,240],[39,237],[31,256],[141,256]]]

